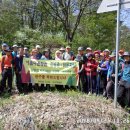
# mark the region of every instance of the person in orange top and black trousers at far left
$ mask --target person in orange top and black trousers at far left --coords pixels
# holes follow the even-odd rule
[[[15,59],[10,48],[6,49],[5,53],[6,55],[2,56],[1,61],[2,79],[0,92],[2,93],[4,91],[4,89],[6,88],[6,81],[8,81],[8,92],[11,93]]]

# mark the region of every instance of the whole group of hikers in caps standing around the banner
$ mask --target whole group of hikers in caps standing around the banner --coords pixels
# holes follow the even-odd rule
[[[43,52],[42,52],[43,51]],[[72,60],[79,62],[79,85],[78,89],[87,94],[102,94],[107,99],[114,98],[115,85],[115,59],[116,52],[105,49],[104,51],[92,50],[90,47],[78,48],[75,55],[70,46],[61,47],[51,56],[49,49],[42,50],[40,45],[36,45],[31,53],[24,46],[13,45],[9,47],[2,44],[1,70],[2,79],[0,93],[3,93],[8,81],[8,92],[12,91],[13,77],[16,77],[16,88],[22,92],[24,84],[21,82],[21,70],[23,58],[36,60]],[[117,90],[118,102],[122,107],[130,106],[130,53],[119,50],[119,86]],[[30,85],[28,85],[30,86]],[[71,87],[71,86],[69,86]]]

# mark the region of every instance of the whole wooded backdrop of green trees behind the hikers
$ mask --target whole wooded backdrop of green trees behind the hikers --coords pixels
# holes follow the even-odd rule
[[[115,49],[116,14],[96,14],[101,0],[3,0],[0,4],[0,41],[33,47],[72,45]],[[130,30],[121,28],[121,47],[127,48]]]

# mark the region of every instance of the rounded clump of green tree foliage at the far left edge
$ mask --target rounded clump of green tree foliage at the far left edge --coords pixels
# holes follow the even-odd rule
[[[13,42],[14,33],[20,27],[16,7],[9,1],[0,4],[0,41]]]

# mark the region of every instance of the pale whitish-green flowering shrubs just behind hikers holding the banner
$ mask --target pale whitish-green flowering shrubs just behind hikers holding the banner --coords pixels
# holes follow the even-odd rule
[[[41,33],[38,29],[31,29],[28,26],[21,28],[20,31],[15,33],[15,43],[25,44],[26,46],[34,47],[36,44],[40,44],[43,47],[60,47],[65,46],[64,35],[59,33]]]

